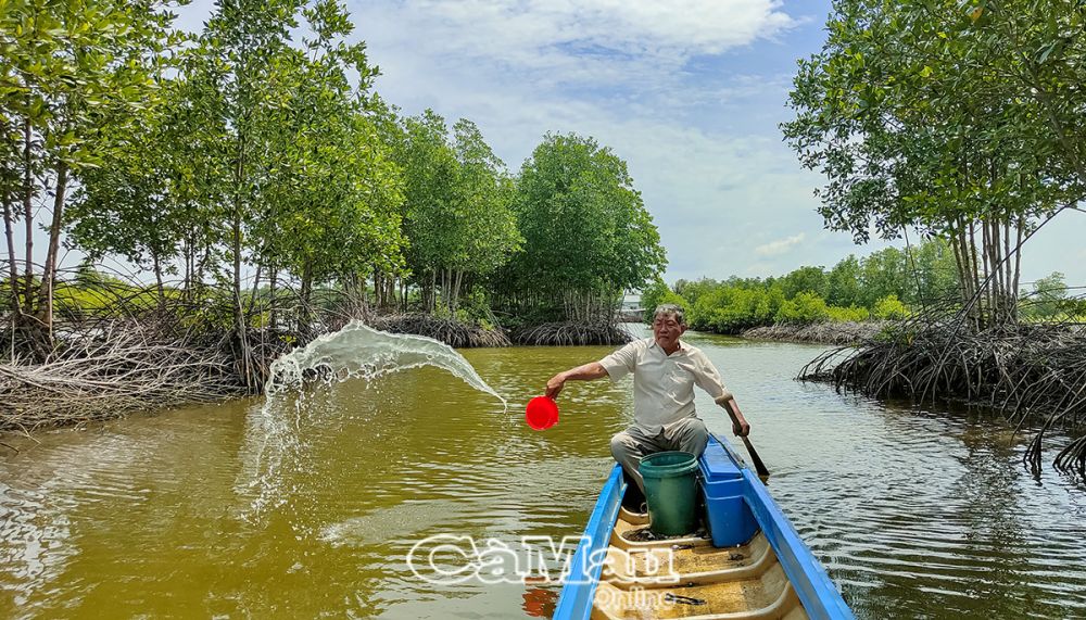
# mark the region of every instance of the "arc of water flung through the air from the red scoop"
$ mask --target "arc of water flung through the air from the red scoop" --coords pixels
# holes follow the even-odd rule
[[[290,492],[285,488],[285,475],[300,469],[306,455],[303,428],[311,407],[303,388],[307,383],[317,381],[331,385],[349,379],[372,381],[424,366],[447,370],[501,401],[503,412],[508,412],[505,398],[479,377],[463,355],[432,338],[388,333],[351,321],[343,329],[321,336],[276,359],[269,368],[264,403],[254,407],[247,425],[245,467],[237,490],[243,496],[254,496],[242,518],[260,520],[288,501]]]

